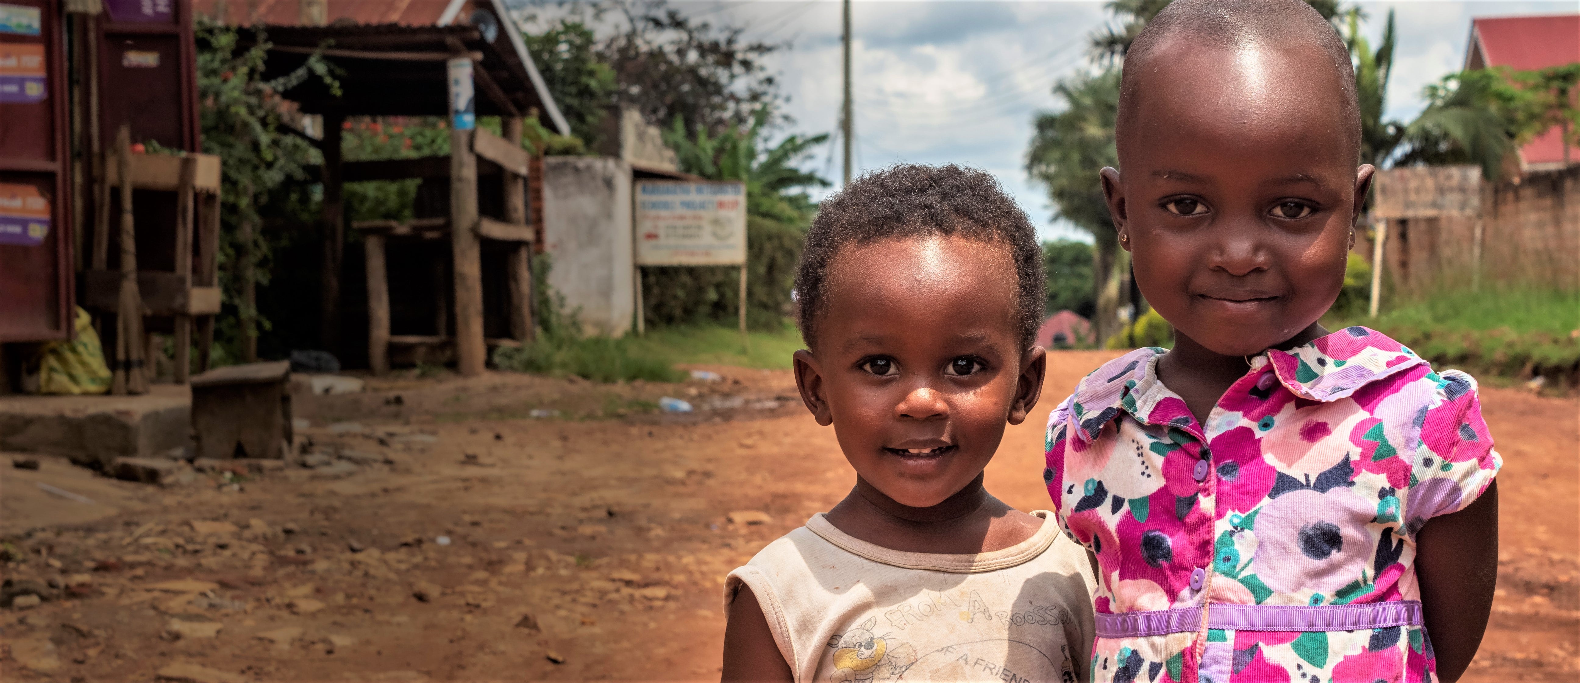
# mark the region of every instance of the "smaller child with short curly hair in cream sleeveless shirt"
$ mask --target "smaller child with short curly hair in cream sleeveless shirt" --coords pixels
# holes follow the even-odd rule
[[[896,166],[823,202],[795,374],[856,486],[730,573],[724,680],[1085,677],[1081,547],[983,489],[1043,386],[1041,259],[978,170]]]

